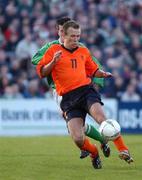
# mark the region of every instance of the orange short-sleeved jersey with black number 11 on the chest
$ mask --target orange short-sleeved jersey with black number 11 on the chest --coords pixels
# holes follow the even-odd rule
[[[92,76],[98,69],[98,65],[92,60],[86,47],[78,47],[70,51],[60,44],[53,44],[44,54],[37,65],[37,73],[40,77],[41,68],[50,63],[54,53],[62,51],[61,58],[52,69],[52,78],[58,95],[91,83],[88,76]]]

